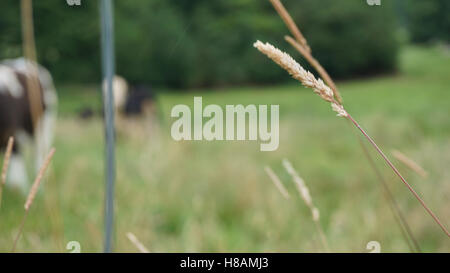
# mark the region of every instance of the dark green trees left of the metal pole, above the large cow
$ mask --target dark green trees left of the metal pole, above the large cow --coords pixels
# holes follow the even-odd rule
[[[64,82],[99,81],[97,1],[69,7],[66,1],[33,1],[38,60]],[[0,16],[0,58],[22,55],[20,1],[4,0]]]

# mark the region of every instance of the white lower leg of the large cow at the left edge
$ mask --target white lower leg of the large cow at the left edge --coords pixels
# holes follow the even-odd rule
[[[21,153],[13,153],[11,155],[7,180],[7,185],[18,189],[23,193],[28,191],[27,169],[24,157]]]

